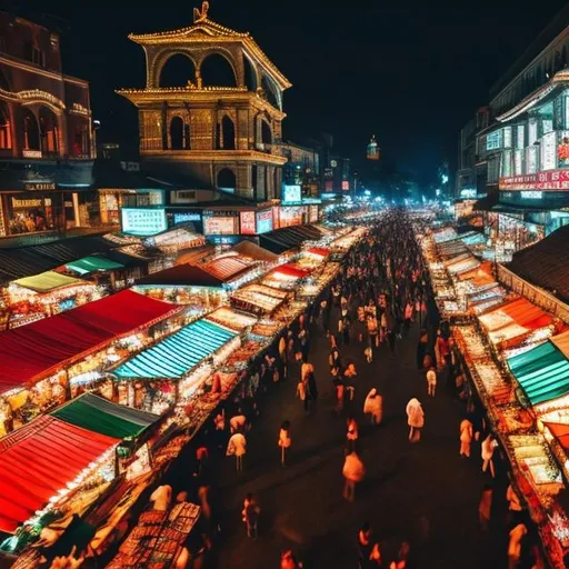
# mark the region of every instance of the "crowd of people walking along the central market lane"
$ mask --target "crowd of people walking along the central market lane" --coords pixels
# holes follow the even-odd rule
[[[249,433],[260,415],[262,397],[273,383],[288,381],[290,387],[287,389],[295,390],[298,406],[302,409],[300,412],[306,413],[307,420],[318,415],[319,395],[323,390],[333,393],[337,420],[346,421],[346,440],[343,448],[339,449],[343,452],[342,497],[346,502],[357,500],[358,485],[366,479],[360,427],[367,418],[365,422],[371,423],[372,428],[381,428],[386,395],[379,386],[375,386],[361,397],[356,397],[361,370],[353,353],[359,352],[368,363],[379,358],[380,349],[382,358],[399,357],[398,346],[410,335],[412,327],[419,331],[417,370],[419,379],[421,375],[426,378],[428,397],[451,397],[465,409],[463,419],[457,426],[457,450],[465,459],[471,459],[472,446],[480,445],[481,470],[485,471],[481,476],[488,477],[488,487],[479,509],[481,531],[488,527],[485,523],[491,517],[491,507],[487,506],[495,488],[496,443],[487,429],[483,407],[476,400],[466,371],[455,358],[449,326],[439,322],[436,311],[431,310],[429,277],[410,219],[402,210],[390,210],[378,221],[371,222],[369,229],[368,234],[345,256],[341,269],[330,286],[262,357],[243,370],[233,399],[223,403],[211,422],[196,436],[190,457],[190,482],[187,477],[176,475],[178,485],[184,480],[183,489],[202,506],[203,526],[201,531],[193,532],[198,535],[198,538],[193,538],[198,545],[192,550],[198,563],[196,567],[200,567],[200,555],[214,549],[222,532],[223,516],[227,515],[227,511],[222,512],[223,508],[216,496],[214,472],[219,470],[219,462],[229,460],[228,457],[234,457],[236,476],[247,471]],[[317,369],[316,362],[311,361],[315,335],[327,337],[328,370]],[[440,395],[437,388],[442,382],[446,393]],[[421,432],[428,417],[420,401],[421,392],[425,391],[418,388],[415,397],[401,409],[407,416],[409,445],[422,443]],[[358,401],[362,400],[361,407]],[[280,428],[274,432],[277,467],[280,463],[286,468],[296,460],[295,433],[299,431],[293,422],[290,417],[281,417]],[[509,518],[513,532],[508,550],[513,563],[510,567],[526,567],[519,563],[528,528],[520,528],[522,508],[516,506],[519,499],[516,501],[517,496],[511,487],[508,492],[509,503],[513,505],[510,512],[517,512]],[[244,526],[243,536],[251,541],[262,536],[263,510],[259,497],[252,492],[246,493],[240,515]],[[421,535],[427,536],[429,520],[421,518],[420,521]],[[362,522],[353,542],[353,567],[413,567],[415,543],[411,540],[401,539],[396,555],[387,552],[381,536],[375,536],[368,522]],[[281,551],[281,569],[302,567],[297,556],[298,552],[291,549]]]

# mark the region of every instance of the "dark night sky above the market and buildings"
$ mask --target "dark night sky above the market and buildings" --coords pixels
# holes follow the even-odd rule
[[[284,139],[302,142],[330,132],[338,150],[358,166],[375,133],[383,160],[416,172],[421,182],[435,176],[445,157],[455,166],[460,128],[565,4],[371,9],[346,2],[333,9],[306,0],[210,3],[210,19],[251,32],[293,83],[284,93]],[[63,68],[90,81],[103,139],[119,141],[128,152],[137,144],[137,116],[114,89],[142,87],[144,58],[127,34],[189,26],[201,1],[181,2],[183,9],[177,10],[73,4],[49,2],[49,13],[64,20]],[[47,11],[46,2],[23,6]]]

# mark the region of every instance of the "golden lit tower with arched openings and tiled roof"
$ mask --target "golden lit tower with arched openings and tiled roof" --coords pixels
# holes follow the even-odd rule
[[[144,169],[187,188],[216,188],[266,201],[279,198],[282,93],[291,87],[249,33],[208,18],[208,2],[180,30],[130,34],[146,54],[143,89],[119,94],[137,106]],[[164,68],[183,56],[193,71],[184,84],[166,87]],[[232,84],[208,84],[211,62],[229,66]],[[186,78],[184,78],[186,79]],[[199,186],[199,188],[198,188]]]

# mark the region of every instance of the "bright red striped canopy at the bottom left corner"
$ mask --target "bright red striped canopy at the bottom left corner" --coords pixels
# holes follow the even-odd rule
[[[120,439],[40,417],[0,440],[0,530],[13,532]]]

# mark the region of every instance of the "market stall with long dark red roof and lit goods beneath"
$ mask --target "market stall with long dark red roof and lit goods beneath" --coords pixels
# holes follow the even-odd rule
[[[69,398],[74,372],[101,370],[128,349],[151,341],[180,307],[130,290],[83,305],[0,336],[0,431],[21,427]]]

